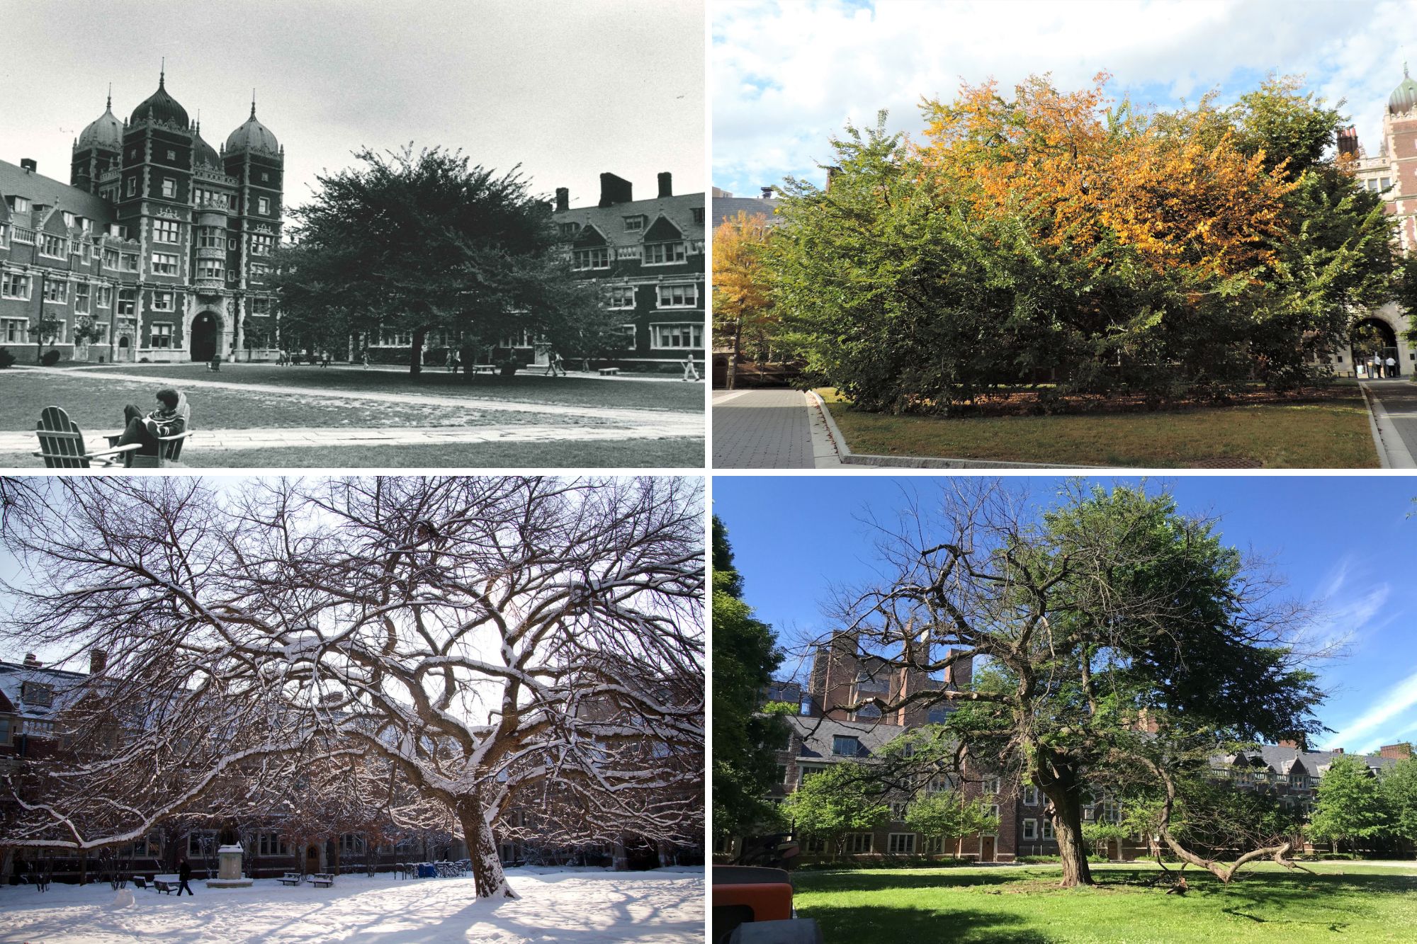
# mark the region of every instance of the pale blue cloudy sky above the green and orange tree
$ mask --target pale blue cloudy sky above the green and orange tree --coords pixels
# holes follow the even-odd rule
[[[823,183],[828,137],[850,119],[920,129],[920,98],[961,81],[1010,89],[1100,71],[1134,102],[1221,102],[1270,71],[1302,74],[1376,153],[1382,109],[1417,67],[1414,0],[717,0],[711,7],[713,183],[737,193],[785,174]]]

